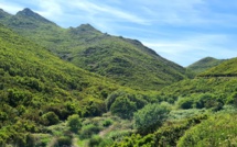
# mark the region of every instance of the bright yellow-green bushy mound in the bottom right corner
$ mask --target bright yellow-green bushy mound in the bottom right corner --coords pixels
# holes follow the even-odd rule
[[[188,129],[177,147],[234,147],[237,146],[237,116],[217,114]]]

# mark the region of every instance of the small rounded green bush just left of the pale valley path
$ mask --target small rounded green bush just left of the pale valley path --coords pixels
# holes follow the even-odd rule
[[[67,125],[69,126],[69,129],[74,133],[77,133],[79,128],[82,127],[82,121],[79,118],[79,115],[73,114],[68,116],[67,118]]]

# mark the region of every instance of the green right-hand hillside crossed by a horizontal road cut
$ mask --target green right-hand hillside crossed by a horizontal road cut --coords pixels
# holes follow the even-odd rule
[[[237,58],[228,59],[194,79],[186,79],[165,87],[161,92],[175,98],[195,101],[200,95],[212,95],[223,104],[233,104],[237,86]]]

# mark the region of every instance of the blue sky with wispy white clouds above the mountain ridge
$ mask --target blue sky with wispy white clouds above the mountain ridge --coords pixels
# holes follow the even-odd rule
[[[0,8],[30,8],[62,27],[89,23],[184,67],[237,57],[237,0],[0,0]]]

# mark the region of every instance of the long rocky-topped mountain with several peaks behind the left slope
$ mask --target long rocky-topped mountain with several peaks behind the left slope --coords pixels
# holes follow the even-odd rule
[[[29,9],[0,22],[61,58],[133,89],[158,90],[187,77],[185,68],[139,41],[104,34],[89,24],[62,29]]]

